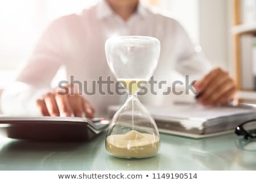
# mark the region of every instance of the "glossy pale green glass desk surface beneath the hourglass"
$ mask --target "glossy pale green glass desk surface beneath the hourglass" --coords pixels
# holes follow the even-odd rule
[[[105,151],[105,133],[85,143],[0,138],[0,170],[256,170],[256,140],[234,134],[190,139],[161,134],[158,155],[119,159]]]

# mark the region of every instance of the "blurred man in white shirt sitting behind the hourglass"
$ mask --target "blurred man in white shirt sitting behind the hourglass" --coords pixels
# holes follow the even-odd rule
[[[106,113],[108,105],[118,104],[118,96],[94,94],[61,95],[49,91],[52,78],[64,66],[67,78],[81,82],[111,75],[104,45],[111,36],[144,35],[158,38],[161,53],[156,80],[168,80],[172,71],[189,75],[201,93],[204,105],[226,104],[234,97],[236,85],[228,73],[217,68],[195,51],[183,27],[157,10],[141,5],[139,0],[102,0],[81,14],[56,19],[40,38],[35,51],[16,82],[2,94],[5,114],[40,114],[51,116],[94,117]],[[88,84],[88,90],[92,89]],[[153,98],[152,98],[153,99]],[[94,110],[95,109],[95,110]]]

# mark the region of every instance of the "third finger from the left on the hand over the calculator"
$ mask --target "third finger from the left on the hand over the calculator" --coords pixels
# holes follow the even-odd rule
[[[71,117],[72,109],[69,104],[68,96],[56,94],[55,100],[56,100],[57,107],[59,108],[60,116]]]

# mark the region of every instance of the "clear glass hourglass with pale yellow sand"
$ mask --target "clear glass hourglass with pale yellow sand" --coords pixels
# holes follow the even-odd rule
[[[148,36],[117,36],[105,44],[109,67],[127,90],[128,98],[109,124],[105,146],[119,158],[146,158],[158,153],[158,128],[137,98],[137,92],[153,75],[160,42]]]

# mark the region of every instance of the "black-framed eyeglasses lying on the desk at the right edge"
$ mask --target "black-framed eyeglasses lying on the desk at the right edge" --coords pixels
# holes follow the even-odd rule
[[[256,119],[251,119],[238,125],[235,133],[237,135],[242,135],[246,140],[250,138],[256,138]]]

